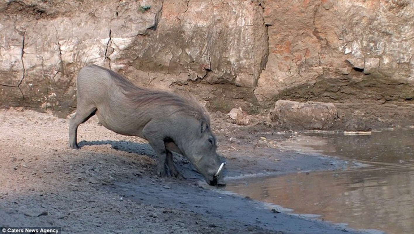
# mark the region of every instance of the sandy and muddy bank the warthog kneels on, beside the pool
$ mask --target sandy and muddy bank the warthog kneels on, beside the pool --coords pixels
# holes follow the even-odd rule
[[[71,150],[68,119],[0,110],[0,227],[60,227],[62,233],[359,233],[275,213],[207,186],[180,156],[175,160],[187,179],[158,178],[144,140],[97,123],[93,117],[79,127],[81,149]],[[213,118],[213,125],[228,179],[347,165],[276,150],[264,134],[225,121]]]

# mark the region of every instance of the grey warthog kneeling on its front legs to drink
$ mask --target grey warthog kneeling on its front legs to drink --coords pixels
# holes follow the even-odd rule
[[[89,65],[77,77],[77,109],[69,146],[78,149],[77,128],[91,116],[116,133],[148,140],[159,176],[180,176],[171,151],[183,154],[212,186],[224,186],[223,166],[206,109],[176,94],[137,87],[121,75]]]

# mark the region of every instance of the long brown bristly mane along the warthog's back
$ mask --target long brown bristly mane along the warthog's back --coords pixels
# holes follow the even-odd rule
[[[137,106],[152,104],[176,106],[177,109],[173,113],[181,112],[188,116],[193,116],[198,120],[204,120],[207,121],[207,123],[210,123],[210,117],[207,110],[194,99],[184,98],[168,91],[137,87],[118,73],[111,70],[107,71],[113,77],[116,84],[123,89],[125,96],[130,98]]]

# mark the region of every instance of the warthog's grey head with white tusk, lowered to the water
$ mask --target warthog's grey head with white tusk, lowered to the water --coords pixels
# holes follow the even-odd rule
[[[191,127],[188,126],[188,130]],[[225,162],[221,162],[217,154],[216,138],[210,130],[209,123],[200,121],[196,133],[190,130],[192,138],[188,139],[185,154],[200,172],[205,181],[211,186],[225,186],[223,169]]]

